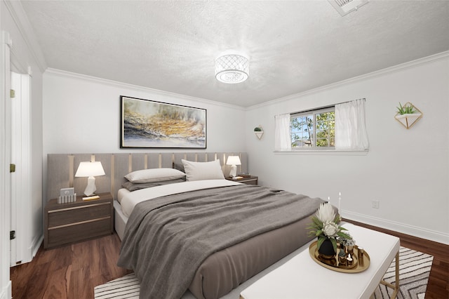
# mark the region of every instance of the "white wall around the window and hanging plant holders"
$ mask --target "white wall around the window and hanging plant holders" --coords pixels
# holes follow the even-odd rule
[[[246,114],[251,171],[271,185],[337,206],[342,215],[449,244],[449,53],[251,107]],[[274,153],[274,115],[366,98],[366,155]],[[398,102],[423,112],[407,130]],[[261,124],[262,140],[251,128]],[[371,207],[373,200],[380,208]]]

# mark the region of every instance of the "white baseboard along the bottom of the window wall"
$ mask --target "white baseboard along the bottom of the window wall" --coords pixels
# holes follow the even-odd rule
[[[445,234],[444,232],[436,232],[434,230],[427,230],[422,227],[415,227],[413,225],[406,225],[400,222],[375,218],[349,211],[342,211],[342,214],[344,214],[344,218],[347,218],[348,220],[363,222],[367,225],[374,225],[377,227],[382,227],[386,230],[394,230],[395,232],[410,234],[413,237],[428,239],[431,241],[449,245],[449,234]]]

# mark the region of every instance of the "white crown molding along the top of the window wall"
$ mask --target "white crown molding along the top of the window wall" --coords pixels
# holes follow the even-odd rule
[[[335,82],[335,83],[331,83],[331,84],[328,84],[328,85],[325,85],[325,86],[320,86],[320,87],[317,87],[317,88],[309,89],[308,91],[302,91],[301,93],[295,93],[293,95],[287,95],[286,97],[278,98],[278,99],[275,99],[275,100],[271,100],[269,102],[263,102],[262,104],[257,104],[257,105],[253,105],[253,106],[247,107],[246,109],[247,110],[252,110],[252,109],[257,109],[257,108],[264,107],[264,106],[267,106],[267,105],[274,105],[276,103],[283,102],[283,101],[286,101],[286,100],[295,100],[295,99],[300,98],[300,97],[302,97],[304,95],[311,95],[311,94],[314,94],[314,93],[319,93],[321,91],[326,91],[326,90],[328,90],[330,88],[335,88],[335,87],[342,86],[342,85],[345,85],[345,84],[350,84],[350,83],[354,83],[354,82],[357,82],[357,81],[363,81],[363,80],[366,80],[366,79],[372,79],[372,78],[375,78],[375,77],[378,77],[378,76],[382,76],[384,74],[400,72],[403,69],[408,69],[410,67],[416,67],[417,65],[423,65],[423,64],[428,63],[428,62],[434,62],[434,61],[438,61],[438,60],[445,60],[445,59],[448,59],[448,58],[449,58],[449,51],[444,51],[444,52],[437,53],[437,54],[434,54],[434,55],[426,56],[424,58],[418,58],[418,59],[415,59],[415,60],[411,60],[409,62],[404,62],[404,63],[401,63],[400,65],[394,65],[393,67],[387,67],[385,69],[379,69],[379,70],[377,70],[375,72],[370,72],[370,73],[363,74],[363,75],[360,75],[360,76],[357,76],[357,77],[352,77],[352,78],[349,78],[349,79],[346,79],[346,80],[342,80],[342,81],[338,81],[338,82]]]

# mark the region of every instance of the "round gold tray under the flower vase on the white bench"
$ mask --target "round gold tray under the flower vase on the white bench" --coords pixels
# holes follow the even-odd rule
[[[363,251],[363,261],[358,260],[358,247],[354,246],[354,256],[351,255],[351,258],[353,259],[352,265],[339,265],[338,263],[338,256],[336,255],[335,258],[332,258],[330,260],[326,260],[324,258],[321,258],[319,256],[318,250],[316,248],[317,241],[312,242],[309,246],[309,253],[316,263],[319,265],[326,267],[330,270],[337,271],[337,272],[344,272],[344,273],[357,273],[357,272],[363,272],[370,267],[370,255],[366,251]]]

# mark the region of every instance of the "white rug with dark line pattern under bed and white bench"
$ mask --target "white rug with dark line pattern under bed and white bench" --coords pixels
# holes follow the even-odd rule
[[[396,259],[395,259],[396,260]],[[384,275],[384,280],[390,284],[395,283],[395,260],[391,263]],[[424,299],[427,281],[434,257],[420,251],[401,247],[399,250],[399,284],[398,299]],[[139,298],[139,281],[133,273],[119,279],[114,279],[95,286],[95,299],[128,299]],[[383,284],[377,286],[371,296],[372,299],[390,298],[391,288]]]

